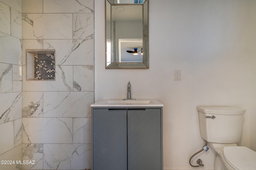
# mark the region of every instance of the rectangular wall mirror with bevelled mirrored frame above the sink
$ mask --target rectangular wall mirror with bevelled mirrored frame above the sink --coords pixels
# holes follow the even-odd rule
[[[105,0],[106,68],[149,68],[148,0]]]

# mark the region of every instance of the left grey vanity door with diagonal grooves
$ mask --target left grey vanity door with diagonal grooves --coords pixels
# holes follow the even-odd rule
[[[127,170],[126,109],[93,109],[93,170]]]

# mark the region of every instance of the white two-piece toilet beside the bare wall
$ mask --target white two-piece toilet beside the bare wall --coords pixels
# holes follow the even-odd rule
[[[198,106],[201,137],[217,152],[214,170],[256,170],[256,152],[238,147],[242,136],[244,109]]]

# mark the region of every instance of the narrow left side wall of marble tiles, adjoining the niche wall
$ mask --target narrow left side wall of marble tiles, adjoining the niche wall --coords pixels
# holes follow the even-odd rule
[[[0,0],[0,160],[21,160],[21,0]],[[20,170],[16,164],[2,170]]]

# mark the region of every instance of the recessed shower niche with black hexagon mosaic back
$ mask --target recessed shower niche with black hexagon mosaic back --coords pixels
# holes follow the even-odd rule
[[[55,80],[55,50],[26,50],[26,79]]]

